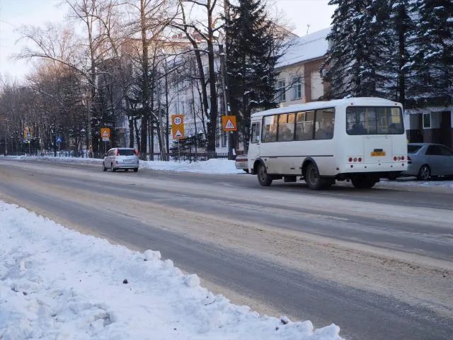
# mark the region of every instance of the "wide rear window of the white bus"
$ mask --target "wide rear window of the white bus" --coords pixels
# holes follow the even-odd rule
[[[349,106],[346,108],[348,135],[402,135],[401,108]]]

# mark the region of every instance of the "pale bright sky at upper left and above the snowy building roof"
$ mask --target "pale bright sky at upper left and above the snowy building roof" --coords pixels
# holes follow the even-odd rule
[[[291,23],[294,33],[306,35],[327,28],[331,23],[333,6],[328,0],[274,0],[278,10]],[[23,46],[15,31],[21,25],[42,26],[47,21],[64,20],[62,0],[0,0],[0,74],[21,80],[30,69],[29,62],[13,60]]]

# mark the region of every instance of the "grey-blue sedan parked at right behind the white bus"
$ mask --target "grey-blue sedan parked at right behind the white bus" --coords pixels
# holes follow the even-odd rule
[[[408,144],[408,169],[403,176],[417,176],[428,181],[433,176],[453,176],[453,152],[445,145]]]

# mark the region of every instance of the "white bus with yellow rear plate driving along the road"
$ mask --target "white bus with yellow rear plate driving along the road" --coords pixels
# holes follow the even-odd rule
[[[317,101],[253,113],[248,172],[262,186],[304,179],[313,190],[335,181],[371,188],[407,169],[401,103],[382,98]]]

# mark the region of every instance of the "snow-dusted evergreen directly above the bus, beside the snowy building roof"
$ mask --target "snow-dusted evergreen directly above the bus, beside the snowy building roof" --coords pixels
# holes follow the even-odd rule
[[[384,64],[389,53],[385,0],[331,0],[337,6],[328,35],[328,58],[321,67],[331,83],[331,98],[384,96],[389,74]]]

